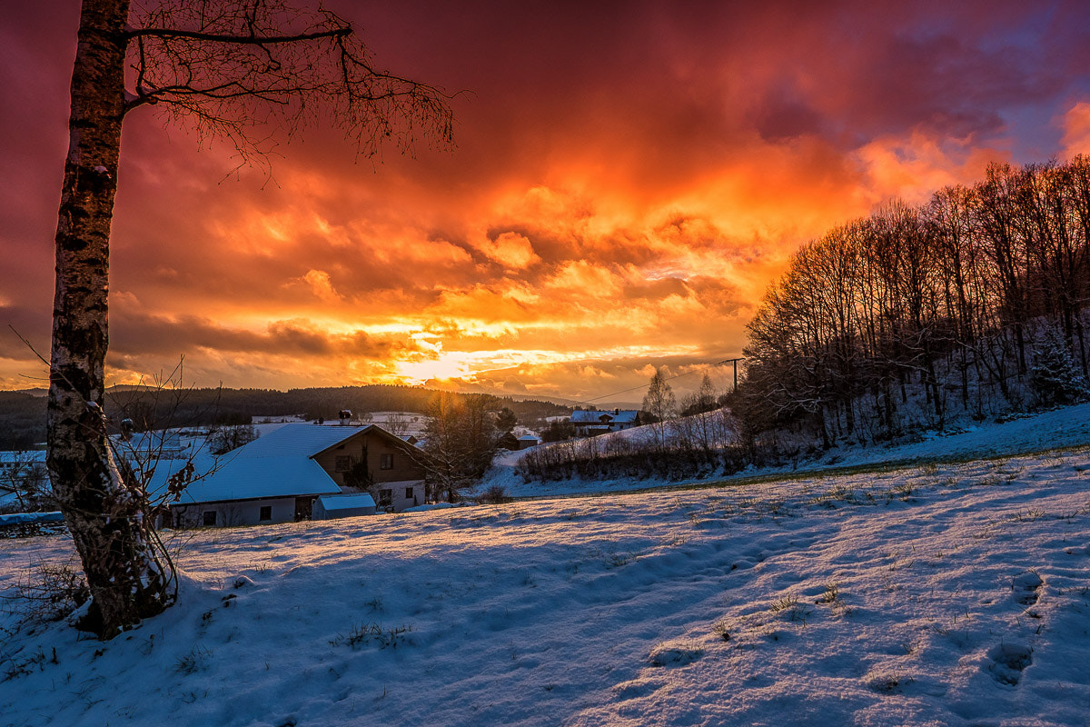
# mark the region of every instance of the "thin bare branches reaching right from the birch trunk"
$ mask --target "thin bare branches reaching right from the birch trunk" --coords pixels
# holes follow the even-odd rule
[[[368,157],[387,143],[403,154],[421,138],[452,143],[453,96],[375,68],[352,24],[329,11],[168,0],[137,9],[131,25],[125,111],[155,106],[203,141],[229,142],[245,162],[265,162],[266,128],[290,140],[331,126]]]

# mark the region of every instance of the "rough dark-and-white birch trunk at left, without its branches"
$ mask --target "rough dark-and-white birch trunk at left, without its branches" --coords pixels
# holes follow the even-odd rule
[[[129,0],[84,0],[57,225],[48,464],[90,586],[83,628],[111,638],[168,605],[138,486],[121,475],[102,410],[109,239],[124,116]]]

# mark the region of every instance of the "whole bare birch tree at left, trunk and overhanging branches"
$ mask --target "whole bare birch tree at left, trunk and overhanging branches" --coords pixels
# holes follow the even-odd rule
[[[128,81],[128,83],[126,83]],[[390,142],[447,144],[439,89],[377,70],[350,23],[282,0],[84,0],[57,226],[48,413],[53,489],[83,562],[82,627],[111,638],[175,598],[143,488],[117,461],[102,410],[110,223],[121,126],[153,107],[261,160],[268,130],[316,122],[371,156]]]

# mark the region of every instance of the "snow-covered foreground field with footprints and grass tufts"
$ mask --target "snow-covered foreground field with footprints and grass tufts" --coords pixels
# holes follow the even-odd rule
[[[0,724],[1086,725],[1088,470],[202,531],[131,633],[0,632]],[[0,592],[69,553],[0,542]]]

